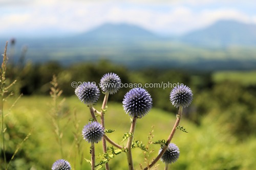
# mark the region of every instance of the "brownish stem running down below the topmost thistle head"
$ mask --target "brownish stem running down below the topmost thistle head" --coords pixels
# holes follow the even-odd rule
[[[109,92],[106,92],[105,96],[104,96],[103,103],[102,103],[101,112],[100,112],[100,123],[101,123],[101,125],[102,125],[102,127],[104,129],[105,129],[105,124],[104,124],[104,114],[105,114],[105,111],[104,110],[106,109],[106,103],[108,103],[108,99],[109,99]],[[105,154],[107,152],[105,138],[102,139],[102,146],[103,146],[103,152]],[[106,168],[106,170],[110,169],[108,162],[105,163],[105,168]]]

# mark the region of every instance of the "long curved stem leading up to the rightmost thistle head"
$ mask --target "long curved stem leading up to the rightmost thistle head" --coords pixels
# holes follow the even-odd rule
[[[179,126],[180,119],[181,119],[181,117],[182,117],[182,110],[183,110],[183,107],[180,106],[180,107],[179,107],[178,114],[176,115],[177,119],[176,119],[176,122],[175,122],[175,124],[174,124],[173,130],[172,130],[172,132],[170,132],[170,135],[169,135],[168,139],[166,140],[166,143],[165,143],[165,145],[164,145],[162,151],[161,151],[161,152],[159,153],[159,155],[152,161],[152,163],[151,163],[150,165],[148,165],[148,167],[145,167],[143,170],[147,170],[147,169],[153,167],[153,166],[157,163],[157,161],[163,156],[164,152],[167,150],[168,145],[169,145],[170,141],[173,139],[174,134],[175,134],[175,132],[176,132],[176,129],[177,129],[177,127]]]

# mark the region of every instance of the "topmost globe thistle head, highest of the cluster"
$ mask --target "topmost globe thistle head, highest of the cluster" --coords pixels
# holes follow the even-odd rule
[[[100,87],[103,92],[116,93],[120,88],[121,80],[115,73],[105,74],[100,79]]]

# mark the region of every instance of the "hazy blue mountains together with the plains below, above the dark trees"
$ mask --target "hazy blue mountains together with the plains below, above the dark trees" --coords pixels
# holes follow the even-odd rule
[[[19,49],[25,45],[26,59],[35,63],[58,61],[69,65],[106,59],[132,68],[256,67],[256,26],[230,20],[218,21],[180,38],[163,38],[135,25],[106,23],[75,36],[15,39],[15,45],[9,44],[8,50],[15,47],[18,60]],[[5,42],[0,40],[2,54]],[[238,46],[229,46],[232,44]]]

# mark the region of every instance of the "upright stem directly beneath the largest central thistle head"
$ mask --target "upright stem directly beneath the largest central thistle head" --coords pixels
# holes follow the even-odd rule
[[[130,170],[133,170],[133,157],[132,157],[132,143],[133,143],[133,136],[134,136],[134,131],[135,131],[135,126],[136,126],[136,120],[137,117],[134,116],[133,117],[133,121],[132,121],[132,125],[130,128],[130,133],[132,134],[127,141],[127,145],[126,148],[127,152],[126,152],[126,156],[127,156],[127,162],[128,162],[128,166]]]

